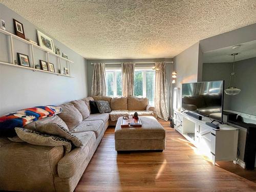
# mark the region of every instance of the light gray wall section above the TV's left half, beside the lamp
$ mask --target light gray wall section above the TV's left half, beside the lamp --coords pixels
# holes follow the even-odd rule
[[[176,87],[181,88],[181,84],[185,82],[201,81],[201,74],[198,73],[198,70],[202,71],[199,54],[199,42],[197,42],[174,57],[174,66],[177,72]]]

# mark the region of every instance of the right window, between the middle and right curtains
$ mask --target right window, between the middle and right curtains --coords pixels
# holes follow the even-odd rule
[[[134,95],[148,98],[148,103],[155,105],[155,71],[138,69],[134,74]]]

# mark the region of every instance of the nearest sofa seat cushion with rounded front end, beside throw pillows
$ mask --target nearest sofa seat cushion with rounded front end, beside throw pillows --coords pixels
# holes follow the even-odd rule
[[[74,148],[74,150],[59,161],[58,176],[62,179],[72,177],[76,174],[76,171],[85,161],[96,141],[93,132],[74,133],[74,135],[82,141],[83,146]]]

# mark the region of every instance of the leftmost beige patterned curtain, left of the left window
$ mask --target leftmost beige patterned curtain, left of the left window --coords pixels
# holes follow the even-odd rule
[[[105,63],[94,63],[92,96],[106,95]]]

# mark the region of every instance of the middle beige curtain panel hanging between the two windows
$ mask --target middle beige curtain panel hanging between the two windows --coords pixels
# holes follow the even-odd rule
[[[135,62],[123,62],[122,66],[122,94],[124,97],[134,95]]]

